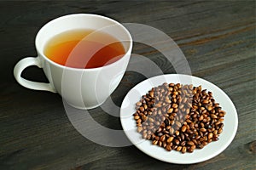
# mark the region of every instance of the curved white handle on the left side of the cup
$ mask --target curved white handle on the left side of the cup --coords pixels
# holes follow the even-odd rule
[[[45,90],[52,93],[56,93],[55,88],[50,85],[50,83],[45,82],[32,82],[21,77],[22,71],[28,66],[37,65],[42,68],[40,59],[38,57],[27,57],[21,59],[16,65],[14,70],[15,79],[20,83],[21,86],[25,88],[30,88],[33,90]]]

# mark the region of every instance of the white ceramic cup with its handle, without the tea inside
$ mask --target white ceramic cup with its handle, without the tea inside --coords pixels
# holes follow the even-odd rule
[[[107,32],[122,42],[125,55],[109,65],[91,69],[78,69],[59,65],[44,55],[44,46],[51,37],[74,29],[93,29]],[[92,109],[108,99],[125,74],[132,39],[129,31],[119,22],[96,14],[69,14],[49,21],[38,31],[35,40],[38,57],[21,59],[14,69],[20,85],[34,90],[45,90],[61,94],[69,105],[79,109]],[[37,65],[43,68],[49,83],[32,82],[20,77],[26,67]]]

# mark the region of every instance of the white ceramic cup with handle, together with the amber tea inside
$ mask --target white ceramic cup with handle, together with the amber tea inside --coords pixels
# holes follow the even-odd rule
[[[38,31],[38,57],[21,59],[15,79],[35,90],[61,94],[75,108],[92,109],[108,99],[125,74],[132,39],[119,22],[97,14],[69,14],[49,21]],[[37,65],[49,83],[21,77]]]

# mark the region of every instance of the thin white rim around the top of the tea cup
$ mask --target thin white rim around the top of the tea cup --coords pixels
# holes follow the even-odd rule
[[[125,33],[127,34],[127,36],[129,37],[129,47],[127,50],[125,50],[125,54],[124,56],[121,58],[121,59],[118,59],[117,61],[109,64],[109,65],[103,65],[101,67],[96,67],[96,68],[75,68],[75,67],[70,67],[70,66],[66,66],[66,65],[60,65],[58,63],[55,63],[53,60],[49,59],[48,57],[45,56],[44,52],[43,52],[43,49],[40,51],[38,50],[38,37],[40,35],[40,33],[44,30],[44,28],[46,26],[49,26],[51,23],[55,22],[55,21],[58,21],[58,20],[64,20],[66,18],[69,18],[69,17],[74,17],[74,16],[93,16],[93,17],[98,17],[98,18],[102,18],[104,20],[110,20],[112,21],[114,24],[120,26],[121,28],[123,28],[123,30],[125,31]],[[55,65],[55,66],[58,66],[58,67],[61,67],[63,69],[67,69],[67,70],[73,70],[73,71],[97,71],[97,70],[101,70],[102,68],[108,68],[112,65],[117,65],[119,64],[119,62],[121,62],[121,60],[123,60],[127,54],[130,55],[131,54],[131,48],[132,48],[132,37],[131,37],[131,34],[130,32],[125,28],[125,26],[123,26],[122,24],[120,24],[118,21],[116,20],[113,20],[111,18],[108,18],[106,16],[102,16],[102,15],[99,15],[99,14],[67,14],[67,15],[63,15],[61,17],[58,17],[58,18],[55,18],[53,20],[50,20],[49,22],[47,22],[44,26],[42,26],[40,28],[40,30],[38,31],[37,33],[37,36],[35,38],[35,46],[36,46],[36,49],[37,49],[37,52],[38,54],[40,54],[45,60],[47,60],[49,63],[51,63],[52,65]]]

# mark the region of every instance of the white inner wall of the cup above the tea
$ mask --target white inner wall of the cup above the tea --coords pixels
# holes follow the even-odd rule
[[[125,52],[131,46],[130,34],[116,21],[96,14],[71,14],[50,21],[38,31],[36,37],[38,52],[44,54],[44,46],[51,37],[75,29],[92,29],[106,32],[122,42]]]

